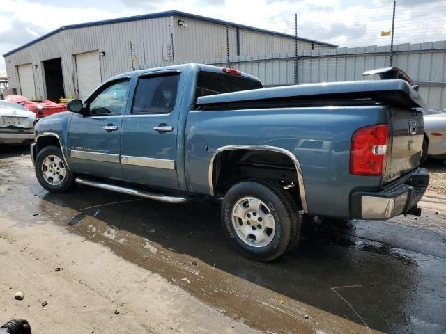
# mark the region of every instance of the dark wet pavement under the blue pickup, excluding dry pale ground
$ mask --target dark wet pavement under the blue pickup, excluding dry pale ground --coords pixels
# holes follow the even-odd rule
[[[261,263],[226,242],[218,200],[171,205],[86,186],[47,193],[27,154],[0,147],[2,212],[23,228],[51,222],[105,244],[248,326],[267,333],[446,332],[446,234],[404,223],[413,217],[305,217],[298,248]],[[446,224],[441,215],[418,219]]]

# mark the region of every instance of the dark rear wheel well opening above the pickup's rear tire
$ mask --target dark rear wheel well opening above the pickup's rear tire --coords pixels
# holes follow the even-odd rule
[[[302,208],[298,172],[288,155],[270,150],[236,149],[215,156],[210,180],[215,196],[224,196],[231,186],[249,179],[268,179],[284,186]]]

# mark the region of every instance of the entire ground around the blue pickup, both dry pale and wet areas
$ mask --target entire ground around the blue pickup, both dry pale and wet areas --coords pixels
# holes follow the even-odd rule
[[[426,193],[420,217],[304,221],[298,248],[273,263],[228,245],[219,205],[47,193],[26,150],[0,153],[0,322],[22,317],[36,334],[445,333],[446,196]]]

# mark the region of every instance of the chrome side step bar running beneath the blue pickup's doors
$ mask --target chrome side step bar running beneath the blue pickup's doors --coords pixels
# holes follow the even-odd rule
[[[151,200],[159,200],[160,202],[183,203],[189,200],[189,197],[187,196],[169,196],[165,195],[164,193],[151,193],[144,190],[125,188],[123,186],[115,186],[114,184],[87,180],[83,177],[76,177],[76,182],[79,184],[84,184],[85,186],[94,186],[95,188],[116,191],[117,193],[126,193],[127,195],[149,198]]]

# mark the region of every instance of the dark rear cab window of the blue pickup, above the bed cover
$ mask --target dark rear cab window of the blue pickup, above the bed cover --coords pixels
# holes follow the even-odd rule
[[[224,72],[200,71],[197,79],[195,100],[201,96],[239,92],[263,88],[260,81]]]

